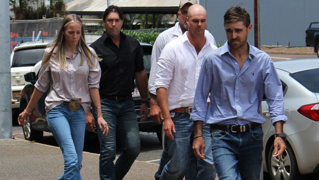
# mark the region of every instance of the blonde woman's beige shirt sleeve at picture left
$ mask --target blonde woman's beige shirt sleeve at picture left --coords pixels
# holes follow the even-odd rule
[[[44,57],[47,56],[50,50],[51,49],[48,48],[44,50],[42,60],[44,59]],[[49,89],[51,83],[50,61],[47,63],[46,66],[41,66],[38,77],[39,78],[35,83],[34,87],[40,90],[41,92],[46,92]]]

